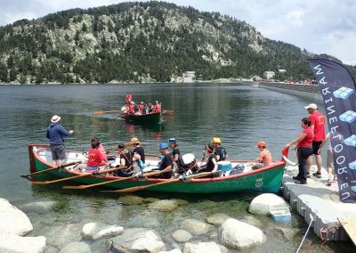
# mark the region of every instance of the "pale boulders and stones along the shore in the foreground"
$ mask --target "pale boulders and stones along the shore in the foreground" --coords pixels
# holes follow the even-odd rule
[[[121,197],[125,205],[147,203],[148,208],[158,212],[172,212],[187,205],[184,200],[143,199],[134,195]],[[152,200],[149,200],[152,199]],[[38,201],[20,206],[25,212],[44,215],[55,201]],[[271,208],[285,207],[281,197],[264,193],[250,204],[249,212],[255,216],[271,215]],[[254,247],[266,241],[266,235],[258,228],[260,222],[253,215],[241,220],[223,213],[215,213],[206,220],[184,219],[180,229],[171,234],[159,234],[143,222],[142,227],[123,227],[93,220],[79,227],[67,224],[55,227],[44,236],[30,236],[33,231],[28,216],[5,199],[0,199],[0,252],[231,252]],[[142,220],[147,220],[143,218]],[[136,225],[137,225],[136,224]],[[45,230],[44,230],[45,231]],[[43,233],[44,233],[43,231]],[[291,234],[291,233],[289,233]],[[292,233],[293,234],[293,233]],[[206,235],[210,240],[199,241]],[[98,251],[98,244],[99,251]],[[95,249],[93,248],[95,246]],[[183,247],[181,246],[183,245]],[[167,251],[168,250],[168,251]]]

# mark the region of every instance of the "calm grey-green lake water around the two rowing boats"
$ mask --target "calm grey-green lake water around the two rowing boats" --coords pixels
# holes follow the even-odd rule
[[[93,110],[119,110],[125,94],[131,92],[135,102],[162,102],[164,110],[174,110],[158,126],[127,124],[117,115],[92,114]],[[22,205],[53,200],[50,212],[26,212],[34,224],[31,236],[44,235],[56,252],[70,241],[65,228],[74,233],[72,241],[80,240],[83,224],[101,221],[124,227],[150,227],[158,231],[168,249],[180,247],[170,236],[184,219],[205,220],[214,213],[225,213],[240,220],[256,218],[267,235],[267,242],[247,252],[294,252],[306,231],[306,224],[298,215],[293,222],[277,224],[270,217],[253,216],[247,209],[253,194],[187,195],[137,192],[134,196],[178,199],[188,205],[165,213],[150,210],[145,203],[127,205],[125,198],[90,191],[61,190],[63,184],[31,186],[19,175],[28,173],[28,143],[47,143],[45,130],[53,114],[61,116],[62,125],[75,131],[66,139],[70,150],[86,151],[92,136],[99,136],[107,146],[127,142],[138,137],[146,152],[158,152],[158,143],[176,138],[182,153],[193,152],[199,159],[213,136],[222,138],[230,159],[255,159],[255,143],[265,141],[274,159],[301,131],[301,118],[307,116],[304,106],[312,101],[303,97],[244,86],[240,84],[167,84],[167,85],[93,85],[93,86],[0,86],[0,198],[19,208]],[[292,156],[293,159],[295,157]],[[147,201],[146,201],[147,202]],[[74,229],[75,228],[75,229]],[[287,229],[294,236],[287,238]],[[218,230],[192,241],[216,241]],[[54,236],[54,233],[56,235]],[[61,238],[62,240],[58,241]],[[102,250],[103,241],[88,241],[93,252]],[[304,242],[308,252],[345,252],[344,243],[325,245],[310,233]]]

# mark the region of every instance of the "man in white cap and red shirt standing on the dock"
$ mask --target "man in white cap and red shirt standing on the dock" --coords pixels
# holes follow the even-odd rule
[[[312,129],[314,131],[314,137],[312,139],[312,153],[315,155],[318,171],[313,173],[317,177],[321,177],[321,155],[320,146],[322,141],[325,140],[325,117],[318,111],[318,106],[315,103],[308,104],[304,107],[308,110],[311,116],[309,119],[312,121]],[[312,167],[312,156],[308,159],[308,174]]]

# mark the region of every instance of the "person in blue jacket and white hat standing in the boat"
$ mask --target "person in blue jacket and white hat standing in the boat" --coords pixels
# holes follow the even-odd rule
[[[54,115],[51,118],[51,124],[47,127],[46,137],[50,141],[52,162],[57,167],[60,167],[66,159],[64,137],[72,135],[73,132],[73,130],[67,131],[63,126],[61,126],[60,116]]]

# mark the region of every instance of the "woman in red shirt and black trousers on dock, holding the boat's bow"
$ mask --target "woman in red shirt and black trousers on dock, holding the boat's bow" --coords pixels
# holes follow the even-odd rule
[[[310,118],[302,118],[301,126],[303,131],[292,142],[286,145],[286,148],[289,148],[289,146],[295,144],[294,149],[297,148],[299,173],[293,176],[293,179],[296,180],[295,184],[306,184],[307,160],[312,156],[312,139],[314,137]]]

